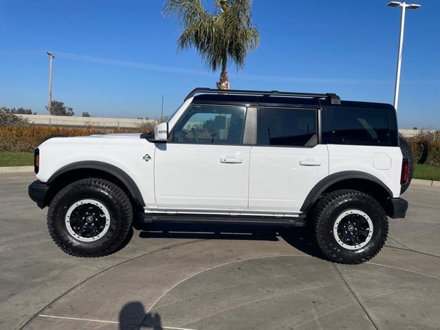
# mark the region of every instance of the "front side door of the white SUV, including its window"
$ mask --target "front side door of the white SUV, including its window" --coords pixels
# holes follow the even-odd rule
[[[159,209],[248,208],[250,145],[243,145],[245,107],[192,104],[155,149]]]

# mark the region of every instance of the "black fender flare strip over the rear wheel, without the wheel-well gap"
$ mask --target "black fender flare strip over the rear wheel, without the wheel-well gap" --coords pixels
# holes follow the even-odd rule
[[[314,188],[310,190],[309,195],[307,195],[303,206],[301,206],[301,212],[307,212],[308,210],[310,210],[310,208],[314,206],[314,203],[316,203],[320,195],[322,195],[322,192],[325,192],[325,190],[331,185],[347,179],[366,179],[369,181],[373,181],[375,184],[379,184],[380,186],[382,186],[382,188],[384,188],[386,192],[388,192],[388,195],[393,198],[393,192],[390,190],[390,188],[388,188],[388,186],[386,186],[386,184],[384,184],[382,180],[378,179],[374,175],[360,172],[358,170],[344,170],[342,172],[333,173],[319,181],[318,184],[316,184]]]

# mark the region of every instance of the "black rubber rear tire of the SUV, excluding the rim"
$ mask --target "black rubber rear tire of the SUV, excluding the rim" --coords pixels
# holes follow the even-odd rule
[[[373,234],[366,245],[357,250],[343,248],[333,236],[333,225],[344,211],[365,212],[373,222]],[[314,221],[314,239],[320,251],[335,263],[358,264],[372,259],[385,244],[388,219],[384,208],[373,197],[358,190],[336,190],[322,195],[309,214]]]

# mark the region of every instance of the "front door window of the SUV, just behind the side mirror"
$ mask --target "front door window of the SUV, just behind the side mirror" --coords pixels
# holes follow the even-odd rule
[[[241,144],[245,107],[190,106],[173,130],[171,142]]]

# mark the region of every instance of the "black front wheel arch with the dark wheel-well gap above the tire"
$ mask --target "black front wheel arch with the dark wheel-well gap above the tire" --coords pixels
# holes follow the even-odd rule
[[[47,180],[50,189],[45,198],[45,204],[48,205],[56,192],[67,186],[67,184],[87,177],[100,177],[112,181],[126,191],[133,202],[133,206],[138,208],[145,206],[144,199],[135,181],[124,170],[118,166],[99,161],[75,162],[56,170]]]

